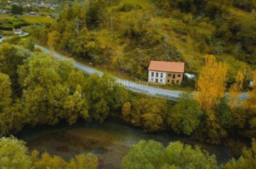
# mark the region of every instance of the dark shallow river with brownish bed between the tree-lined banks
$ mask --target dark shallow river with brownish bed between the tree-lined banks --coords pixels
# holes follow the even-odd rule
[[[79,153],[92,152],[100,158],[100,168],[121,168],[121,161],[129,148],[139,140],[154,139],[167,146],[170,141],[182,141],[185,144],[199,145],[210,154],[215,154],[218,163],[227,162],[231,156],[225,146],[214,146],[191,141],[186,136],[169,132],[148,133],[122,122],[107,120],[103,124],[96,122],[78,122],[73,126],[61,123],[55,126],[26,128],[16,134],[18,139],[27,142],[29,150],[48,151],[65,160]]]

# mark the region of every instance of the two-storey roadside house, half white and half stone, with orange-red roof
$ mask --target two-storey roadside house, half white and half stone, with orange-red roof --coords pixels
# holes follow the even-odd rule
[[[181,84],[185,63],[151,61],[149,64],[149,83]]]

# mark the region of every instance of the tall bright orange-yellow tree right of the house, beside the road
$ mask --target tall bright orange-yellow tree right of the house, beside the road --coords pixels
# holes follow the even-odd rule
[[[198,92],[195,95],[202,110],[211,110],[218,105],[221,98],[224,98],[227,71],[226,64],[217,62],[213,55],[206,56],[206,64],[198,77]]]

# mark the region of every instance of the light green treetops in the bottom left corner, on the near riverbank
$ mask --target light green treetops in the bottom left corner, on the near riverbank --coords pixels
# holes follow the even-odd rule
[[[0,168],[10,169],[96,169],[99,158],[92,153],[80,154],[70,161],[65,161],[59,156],[51,156],[45,152],[39,156],[38,151],[28,153],[24,141],[14,137],[0,138]]]

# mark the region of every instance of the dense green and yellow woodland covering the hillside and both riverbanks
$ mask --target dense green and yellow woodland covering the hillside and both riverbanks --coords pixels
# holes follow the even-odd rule
[[[64,8],[55,22],[31,30],[34,39],[14,37],[0,45],[0,136],[61,120],[72,125],[78,119],[104,122],[118,117],[149,132],[165,130],[224,143],[236,158],[218,166],[215,156],[198,147],[140,141],[123,158],[123,168],[189,168],[191,163],[192,168],[256,168],[256,85],[250,98],[240,100],[247,79],[256,81],[256,74],[250,74],[256,61],[254,8],[255,1],[220,5],[188,0],[98,0]],[[187,71],[198,74],[196,92],[183,93],[173,103],[109,86],[114,81],[110,76],[86,76],[72,59],[54,59],[34,49],[33,40],[142,79],[151,59],[184,61]],[[250,141],[251,148],[243,148]],[[97,164],[97,156],[90,153],[64,161],[28,152],[13,137],[0,139],[0,168]]]

